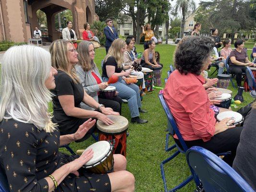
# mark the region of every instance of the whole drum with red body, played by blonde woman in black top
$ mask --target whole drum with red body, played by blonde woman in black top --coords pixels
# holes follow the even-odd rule
[[[112,125],[106,125],[101,120],[97,121],[100,141],[115,140],[113,154],[122,154],[126,156],[126,132],[129,122],[121,115],[108,115],[110,120],[114,121]]]

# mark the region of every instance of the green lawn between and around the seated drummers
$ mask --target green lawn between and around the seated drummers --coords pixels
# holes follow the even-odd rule
[[[143,51],[143,45],[136,45],[136,48],[137,52]],[[156,50],[161,55],[160,61],[164,65],[162,86],[164,86],[164,78],[167,77],[167,71],[170,70],[169,66],[173,63],[172,57],[175,48],[176,46],[171,45],[157,45],[156,47]],[[105,48],[98,48],[96,50],[95,61],[100,72],[100,62],[105,57],[105,54]],[[237,90],[234,90],[231,84],[229,88],[233,91],[234,95],[237,93]],[[164,191],[160,173],[160,162],[169,157],[171,152],[166,153],[164,151],[167,120],[158,99],[158,91],[156,89],[152,94],[147,94],[143,98],[143,108],[148,113],[142,114],[141,118],[147,119],[148,123],[143,125],[129,124],[130,136],[127,138],[127,169],[135,176],[136,192]],[[244,99],[245,102],[240,107],[247,105],[253,100],[248,93],[244,93]],[[126,117],[129,121],[131,120],[127,104],[122,105],[122,116]],[[92,138],[89,138],[83,143],[73,143],[71,147],[75,150],[83,149],[94,142]],[[170,144],[174,144],[172,140]],[[165,169],[169,188],[174,187],[190,174],[183,155],[173,159],[165,166]],[[190,182],[180,192],[192,192],[194,189],[194,183]]]

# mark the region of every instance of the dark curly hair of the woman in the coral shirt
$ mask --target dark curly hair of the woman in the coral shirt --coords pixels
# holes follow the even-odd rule
[[[177,45],[174,64],[180,73],[199,75],[215,43],[207,36],[185,36]]]

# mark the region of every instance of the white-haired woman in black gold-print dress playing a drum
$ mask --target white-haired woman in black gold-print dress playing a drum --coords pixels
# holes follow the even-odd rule
[[[114,172],[93,174],[82,166],[92,158],[59,152],[59,146],[83,138],[95,124],[87,120],[73,134],[60,136],[48,103],[55,88],[48,51],[23,45],[9,48],[1,63],[0,169],[14,192],[134,191],[134,176],[126,159],[114,155]],[[10,99],[12,98],[12,99]]]

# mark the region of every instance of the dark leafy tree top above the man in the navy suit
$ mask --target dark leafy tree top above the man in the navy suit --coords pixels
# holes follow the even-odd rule
[[[123,21],[125,18],[120,12],[122,7],[122,0],[95,0],[95,12],[100,21],[106,21],[108,18]]]

